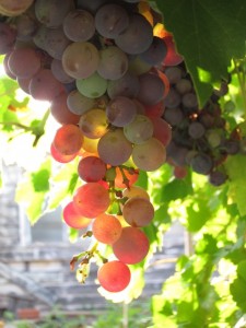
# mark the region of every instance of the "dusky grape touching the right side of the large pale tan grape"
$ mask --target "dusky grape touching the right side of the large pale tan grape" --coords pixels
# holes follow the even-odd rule
[[[115,46],[99,50],[97,72],[108,80],[120,79],[128,70],[127,55]]]

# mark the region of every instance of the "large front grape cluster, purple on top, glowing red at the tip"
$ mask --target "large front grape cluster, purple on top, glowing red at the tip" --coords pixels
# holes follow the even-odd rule
[[[79,159],[81,185],[63,220],[77,230],[92,226],[86,235],[113,253],[105,259],[93,246],[83,253],[80,271],[99,256],[101,285],[119,292],[130,282],[129,266],[149,253],[142,227],[154,218],[148,192],[134,184],[140,171],[165,163],[172,137],[163,118],[169,83],[161,68],[183,58],[171,34],[154,33],[159,15],[145,1],[27,5],[0,23],[5,72],[33,98],[50,102],[60,124],[50,154],[59,163]]]

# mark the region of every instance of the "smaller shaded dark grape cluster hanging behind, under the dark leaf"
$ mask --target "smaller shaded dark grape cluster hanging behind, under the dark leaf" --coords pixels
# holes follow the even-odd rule
[[[173,165],[175,177],[184,178],[190,167],[207,175],[212,185],[221,186],[227,179],[223,163],[241,151],[238,129],[230,131],[220,105],[220,98],[229,91],[230,77],[200,108],[184,62],[163,71],[171,83],[163,117],[172,126],[167,162]]]

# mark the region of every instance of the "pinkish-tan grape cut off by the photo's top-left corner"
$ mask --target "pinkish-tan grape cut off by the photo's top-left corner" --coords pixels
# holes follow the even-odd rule
[[[34,0],[1,0],[0,13],[5,16],[16,16],[25,12]]]

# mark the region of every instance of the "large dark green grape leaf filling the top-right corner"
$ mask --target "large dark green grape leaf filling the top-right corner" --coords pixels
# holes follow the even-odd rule
[[[156,3],[203,106],[212,93],[212,84],[227,78],[232,58],[244,57],[246,2],[156,0]]]

